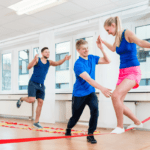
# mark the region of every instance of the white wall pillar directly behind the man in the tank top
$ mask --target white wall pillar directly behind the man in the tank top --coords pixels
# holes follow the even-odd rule
[[[48,47],[50,59],[55,60],[54,32],[41,33],[39,48]],[[55,67],[50,66],[45,80],[45,100],[43,103],[40,122],[55,123]]]

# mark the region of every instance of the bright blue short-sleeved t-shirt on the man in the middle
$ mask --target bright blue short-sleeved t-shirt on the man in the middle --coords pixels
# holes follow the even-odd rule
[[[79,57],[79,59],[75,62],[74,72],[76,82],[73,87],[73,96],[83,97],[95,92],[95,88],[82,79],[79,75],[83,72],[87,72],[90,77],[95,80],[95,68],[96,64],[98,64],[99,58],[99,56],[88,55],[88,60]]]

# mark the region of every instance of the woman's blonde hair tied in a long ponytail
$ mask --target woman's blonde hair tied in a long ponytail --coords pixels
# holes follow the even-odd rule
[[[104,27],[111,26],[112,23],[116,24],[115,45],[119,47],[120,42],[121,42],[122,30],[123,30],[120,18],[118,16],[108,18],[104,23]]]

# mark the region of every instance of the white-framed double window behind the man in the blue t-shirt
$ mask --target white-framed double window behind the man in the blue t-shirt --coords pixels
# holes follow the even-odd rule
[[[73,85],[75,83],[74,63],[78,59],[79,54],[75,48],[76,42],[79,39],[88,42],[89,54],[95,54],[95,35],[96,32],[81,33],[71,37],[57,39],[55,43],[55,60],[59,61],[66,55],[71,55],[69,61],[65,61],[60,66],[56,67],[55,75],[55,89],[56,93],[72,93]]]

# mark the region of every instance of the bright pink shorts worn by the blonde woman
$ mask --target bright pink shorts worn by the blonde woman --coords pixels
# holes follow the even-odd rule
[[[124,79],[135,80],[136,85],[133,87],[133,89],[136,89],[139,87],[141,76],[142,74],[140,66],[119,69],[117,85],[119,85]]]

